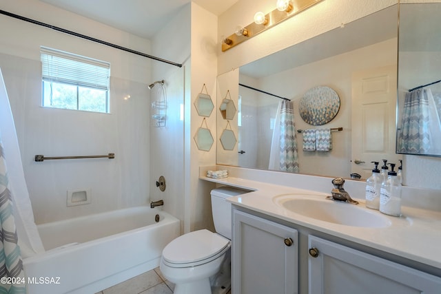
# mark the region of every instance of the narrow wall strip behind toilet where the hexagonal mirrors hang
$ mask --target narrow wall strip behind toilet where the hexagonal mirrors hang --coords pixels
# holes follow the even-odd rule
[[[198,116],[194,107],[194,101],[204,84],[212,99],[216,98],[218,19],[194,2],[191,11],[192,58],[189,76],[191,81],[188,84],[191,90],[189,96],[185,97],[185,232],[203,228],[214,230],[209,196],[214,185],[198,180],[198,177],[200,166],[214,165],[216,162],[216,143],[209,151],[198,150],[194,143],[194,135],[203,122],[203,117]],[[206,121],[216,138],[216,112],[212,112]]]

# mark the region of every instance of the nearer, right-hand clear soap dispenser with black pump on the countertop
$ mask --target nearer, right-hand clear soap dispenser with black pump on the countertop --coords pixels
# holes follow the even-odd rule
[[[387,180],[382,182],[380,189],[380,212],[389,216],[401,216],[401,183],[398,180],[394,163],[391,165]]]

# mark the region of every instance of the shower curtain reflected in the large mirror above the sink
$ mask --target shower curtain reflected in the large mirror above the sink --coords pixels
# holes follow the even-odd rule
[[[283,100],[278,105],[268,168],[298,173],[296,126],[291,101]]]

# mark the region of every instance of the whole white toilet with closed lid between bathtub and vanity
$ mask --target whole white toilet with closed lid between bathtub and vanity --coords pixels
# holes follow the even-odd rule
[[[228,197],[247,193],[232,187],[213,189],[216,233],[207,229],[186,233],[167,244],[160,269],[175,284],[174,294],[223,294],[231,287],[232,212]]]

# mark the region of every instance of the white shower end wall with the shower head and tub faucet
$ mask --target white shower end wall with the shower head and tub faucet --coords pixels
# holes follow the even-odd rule
[[[166,127],[154,127],[150,118],[150,198],[164,200],[163,209],[181,220],[184,225],[184,113],[185,81],[189,79],[190,56],[190,5],[181,9],[174,19],[152,39],[152,54],[161,56],[183,67],[165,63],[152,64],[152,81],[164,80],[167,96]],[[172,38],[170,38],[172,36]],[[160,87],[155,85],[151,102],[158,99]],[[165,177],[166,188],[161,191],[155,185],[159,176]]]

